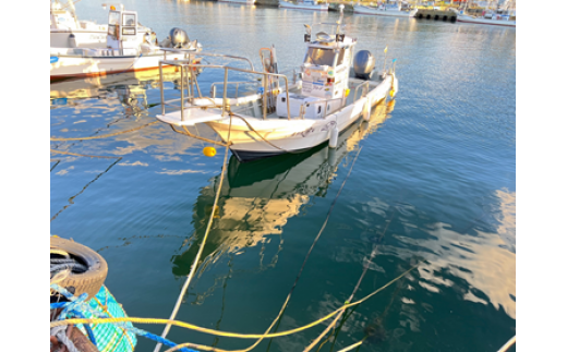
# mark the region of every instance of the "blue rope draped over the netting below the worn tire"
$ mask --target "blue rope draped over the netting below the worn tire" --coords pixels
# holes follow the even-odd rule
[[[65,290],[64,288],[60,287],[57,283],[53,283],[50,287],[51,287],[52,290],[58,291],[65,299],[68,299],[70,301],[70,302],[57,302],[57,303],[50,303],[49,304],[49,307],[51,309],[63,308],[63,311],[61,312],[61,314],[58,317],[59,320],[65,319],[65,317],[69,316],[69,315],[76,315],[79,318],[85,318],[85,316],[83,315],[82,312],[89,312],[93,315],[98,316],[100,318],[109,318],[109,316],[106,313],[98,312],[98,311],[94,309],[93,307],[91,307],[87,303],[84,302],[86,300],[86,298],[87,298],[86,293],[83,293],[79,298],[75,298],[71,292],[69,292],[68,290]],[[173,341],[170,341],[170,340],[165,339],[165,338],[162,338],[160,336],[154,335],[154,333],[152,333],[149,331],[142,330],[142,329],[135,328],[133,326],[129,326],[124,321],[116,321],[116,323],[108,321],[108,323],[99,323],[99,324],[114,324],[114,325],[118,325],[118,326],[120,326],[120,327],[122,327],[122,328],[124,328],[124,329],[126,329],[129,331],[132,331],[133,333],[135,333],[137,336],[145,337],[147,339],[154,340],[156,342],[159,342],[161,344],[168,345],[170,348],[173,348],[173,347],[178,345]],[[91,326],[88,324],[83,324],[83,326],[85,327],[85,330],[86,330],[86,332],[88,335],[88,338],[91,339],[93,344],[95,344],[95,347],[96,347],[96,339],[95,339],[95,335],[93,332],[93,329],[91,328]],[[196,350],[191,350],[191,349],[188,349],[188,348],[182,348],[179,351],[183,351],[183,352],[198,352]]]

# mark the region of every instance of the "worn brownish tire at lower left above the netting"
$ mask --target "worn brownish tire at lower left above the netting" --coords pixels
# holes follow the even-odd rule
[[[75,296],[87,293],[88,299],[94,298],[102,287],[108,274],[105,258],[74,241],[51,236],[50,242],[51,274],[71,268],[69,275],[59,280],[57,284],[72,291]],[[61,262],[67,263],[60,264]]]

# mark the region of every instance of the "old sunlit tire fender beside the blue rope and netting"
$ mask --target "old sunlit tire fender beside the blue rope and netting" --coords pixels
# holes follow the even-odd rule
[[[76,262],[85,265],[88,270],[85,272],[70,272],[67,278],[58,282],[59,286],[74,289],[74,295],[79,296],[82,293],[87,293],[88,299],[94,298],[108,274],[108,265],[102,256],[87,246],[79,244],[74,241],[50,236],[51,248],[62,250]],[[51,257],[60,257],[57,254],[51,254]]]

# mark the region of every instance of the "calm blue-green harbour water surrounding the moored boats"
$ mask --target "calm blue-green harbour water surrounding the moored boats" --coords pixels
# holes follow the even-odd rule
[[[206,1],[124,3],[159,38],[179,26],[207,51],[250,57],[257,66],[258,49],[274,44],[282,69],[302,59],[304,23],[338,19]],[[106,19],[97,1],[79,3],[77,14]],[[396,100],[342,134],[337,150],[246,165],[230,158],[204,263],[178,319],[263,332],[362,148],[278,330],[339,307],[369,259],[355,299],[426,259],[358,306],[321,351],[369,332],[360,351],[496,351],[516,333],[516,31],[351,14],[345,21],[357,50],[375,52],[378,65],[385,46],[398,58]],[[218,72],[200,76],[205,90],[214,81],[221,81]],[[167,87],[174,97],[174,83]],[[51,98],[50,134],[59,137],[133,129],[160,111],[153,73],[52,84]],[[198,133],[214,137],[206,126]],[[169,317],[190,271],[222,167],[224,150],[207,158],[204,146],[161,123],[51,142],[56,150],[107,157],[51,154],[51,233],[106,258],[106,284],[131,316]],[[254,351],[301,350],[324,327]],[[168,337],[222,349],[254,342],[181,328]],[[141,340],[137,350],[153,347]]]

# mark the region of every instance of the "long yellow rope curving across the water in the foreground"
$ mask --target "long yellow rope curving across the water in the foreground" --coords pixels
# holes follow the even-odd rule
[[[55,328],[57,326],[73,325],[73,324],[92,324],[92,323],[107,324],[107,323],[130,321],[130,323],[137,323],[137,324],[170,324],[170,325],[174,325],[174,326],[182,327],[182,328],[185,328],[185,329],[200,331],[200,332],[203,332],[203,333],[208,333],[208,335],[214,335],[214,336],[221,336],[221,337],[231,337],[231,338],[238,338],[238,339],[258,339],[258,338],[282,337],[282,336],[288,336],[288,335],[292,335],[292,333],[295,333],[295,332],[300,332],[300,331],[306,330],[306,329],[309,329],[311,327],[314,327],[315,325],[318,325],[318,324],[329,319],[330,317],[335,316],[336,314],[338,314],[342,309],[346,309],[346,308],[349,308],[351,306],[361,304],[362,302],[369,300],[370,298],[372,298],[376,293],[381,292],[382,290],[386,289],[387,287],[389,287],[390,284],[393,284],[397,280],[401,279],[403,276],[406,276],[411,270],[415,269],[423,262],[424,260],[421,260],[420,263],[418,263],[417,265],[414,265],[410,269],[403,271],[401,275],[399,275],[398,277],[396,277],[395,279],[393,279],[391,281],[386,283],[385,286],[383,286],[382,288],[375,290],[374,292],[372,292],[369,295],[360,299],[359,301],[352,302],[352,303],[347,303],[347,304],[342,305],[341,307],[339,307],[338,309],[327,314],[326,316],[324,316],[324,317],[322,317],[322,318],[319,318],[319,319],[317,319],[317,320],[315,320],[313,323],[310,323],[310,324],[304,325],[302,327],[299,327],[299,328],[295,328],[295,329],[291,329],[291,330],[287,330],[287,331],[273,332],[273,333],[267,333],[267,335],[237,333],[237,332],[226,332],[226,331],[218,331],[218,330],[207,329],[207,328],[203,328],[203,327],[200,327],[200,326],[196,326],[196,325],[193,325],[193,324],[183,323],[183,321],[179,321],[179,320],[156,319],[156,318],[134,318],[134,317],[65,319],[65,320],[51,321],[49,326],[50,326],[50,328]]]

